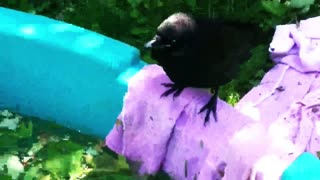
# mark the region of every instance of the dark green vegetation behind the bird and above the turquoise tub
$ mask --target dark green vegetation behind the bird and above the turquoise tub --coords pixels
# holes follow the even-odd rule
[[[320,14],[319,0],[2,0],[0,6],[72,23],[133,45],[142,59],[155,63],[143,44],[159,23],[177,11],[257,23],[264,30]],[[272,37],[270,37],[271,40]],[[220,97],[234,104],[272,67],[268,44],[252,50],[237,79]]]

